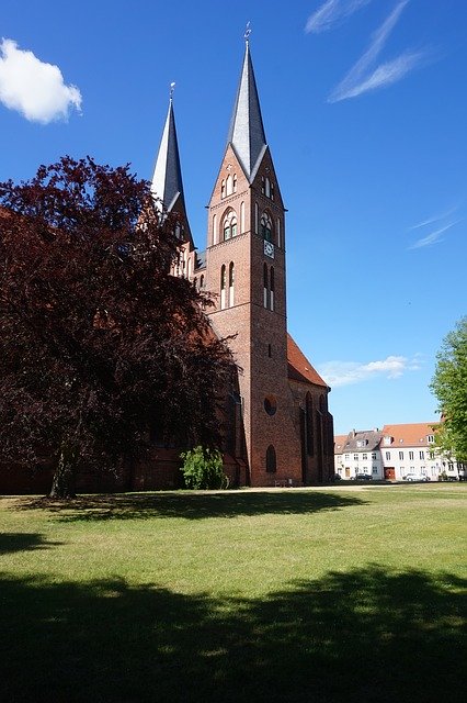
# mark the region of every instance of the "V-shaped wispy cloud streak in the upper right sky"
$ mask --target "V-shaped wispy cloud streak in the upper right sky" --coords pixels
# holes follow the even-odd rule
[[[380,64],[373,69],[377,57],[385,47],[408,2],[409,0],[399,2],[381,26],[372,35],[369,47],[334,88],[328,98],[328,102],[356,98],[368,90],[395,83],[421,63],[424,58],[424,52],[407,51],[397,58]]]

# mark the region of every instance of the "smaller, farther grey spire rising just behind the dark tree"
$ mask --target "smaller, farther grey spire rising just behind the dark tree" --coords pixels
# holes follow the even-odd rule
[[[152,193],[160,198],[167,210],[172,210],[178,197],[182,199],[184,209],[182,171],[180,168],[179,144],[176,141],[175,118],[173,114],[173,89],[175,83],[170,86],[169,112],[167,113],[166,126],[159,146],[152,176]]]

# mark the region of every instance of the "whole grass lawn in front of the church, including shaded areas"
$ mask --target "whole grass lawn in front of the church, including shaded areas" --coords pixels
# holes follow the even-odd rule
[[[466,503],[463,483],[3,498],[0,700],[464,701]]]

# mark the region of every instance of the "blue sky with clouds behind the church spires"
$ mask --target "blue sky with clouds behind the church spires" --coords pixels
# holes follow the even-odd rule
[[[435,420],[435,354],[467,312],[465,0],[2,0],[0,180],[64,154],[150,178],[175,81],[204,248],[248,21],[288,327],[335,432]]]

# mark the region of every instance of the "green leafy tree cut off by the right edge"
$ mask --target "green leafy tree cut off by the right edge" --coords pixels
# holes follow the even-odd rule
[[[467,316],[445,337],[436,359],[430,384],[443,413],[436,445],[457,461],[467,461]]]

